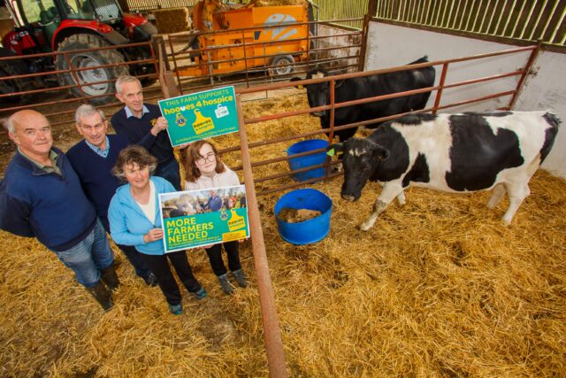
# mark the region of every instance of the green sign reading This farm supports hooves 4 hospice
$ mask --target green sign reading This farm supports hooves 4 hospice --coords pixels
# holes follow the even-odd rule
[[[238,131],[233,87],[167,98],[159,101],[159,108],[169,123],[173,147]]]

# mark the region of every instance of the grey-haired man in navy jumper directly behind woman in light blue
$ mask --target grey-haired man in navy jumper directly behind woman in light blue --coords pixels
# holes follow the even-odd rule
[[[128,142],[120,135],[106,134],[108,121],[104,112],[96,110],[92,105],[80,105],[74,114],[74,120],[77,131],[85,139],[71,147],[66,155],[79,175],[85,194],[95,204],[96,214],[103,222],[104,229],[110,234],[108,206],[121,185],[111,171],[119,152],[126,148]],[[117,245],[134,266],[135,274],[142,277],[148,285],[156,286],[156,276],[151,273],[134,246]]]

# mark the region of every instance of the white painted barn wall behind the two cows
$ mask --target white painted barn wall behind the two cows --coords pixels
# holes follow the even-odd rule
[[[369,71],[406,65],[424,55],[428,55],[429,60],[433,61],[508,50],[516,46],[371,22],[367,48],[365,70]],[[524,52],[451,64],[446,83],[514,71],[524,66],[529,54],[530,52]],[[527,79],[516,102],[515,110],[550,109],[564,120],[555,146],[543,164],[543,168],[566,178],[566,74],[564,74],[564,67],[566,67],[566,54],[541,51],[534,66],[537,74]],[[438,83],[441,66],[436,66],[436,69],[436,83]],[[513,77],[486,81],[460,89],[445,90],[440,105],[515,89],[517,79],[518,77]],[[434,96],[433,92],[427,106],[432,106]],[[503,96],[481,103],[449,108],[441,112],[491,110],[509,104],[509,100],[510,96]]]

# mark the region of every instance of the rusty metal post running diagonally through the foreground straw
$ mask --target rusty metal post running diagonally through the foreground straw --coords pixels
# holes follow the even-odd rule
[[[252,251],[254,253],[254,266],[256,267],[257,291],[259,292],[259,303],[262,312],[262,323],[264,325],[265,350],[267,352],[267,366],[272,378],[288,377],[285,365],[285,353],[281,340],[281,329],[279,319],[275,311],[275,297],[273,294],[272,279],[267,265],[267,254],[265,253],[264,230],[259,218],[257,208],[256,188],[251,170],[251,159],[249,158],[248,136],[244,124],[244,113],[241,107],[241,95],[236,96],[238,106],[238,123],[240,125],[241,164],[244,171],[244,182],[246,184],[246,197],[249,206],[249,230],[251,234]]]

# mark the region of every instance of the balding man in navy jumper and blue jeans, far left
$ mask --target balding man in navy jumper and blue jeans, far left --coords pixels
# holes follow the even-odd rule
[[[0,228],[36,237],[110,310],[111,289],[119,285],[114,256],[73,166],[52,146],[49,120],[24,110],[12,114],[6,128],[18,151],[0,181]]]

